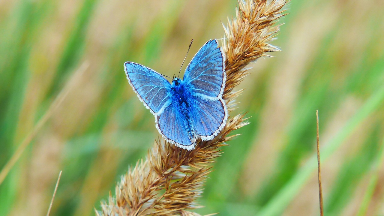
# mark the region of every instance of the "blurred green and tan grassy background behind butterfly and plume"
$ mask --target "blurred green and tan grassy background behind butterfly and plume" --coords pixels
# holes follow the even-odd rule
[[[223,38],[221,22],[236,7],[0,1],[0,171],[37,132],[0,185],[0,215],[45,215],[60,170],[51,215],[94,215],[159,137],[123,63],[172,76],[192,38],[186,63]],[[318,215],[319,110],[325,215],[384,215],[384,2],[292,0],[286,8],[272,42],[282,52],[252,64],[239,87],[237,112],[250,124],[222,148],[196,212]]]

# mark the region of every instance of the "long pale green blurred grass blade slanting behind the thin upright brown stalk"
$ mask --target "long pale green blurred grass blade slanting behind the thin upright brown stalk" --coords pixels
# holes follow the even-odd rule
[[[353,130],[365,120],[372,112],[376,111],[384,100],[384,86],[381,86],[364,103],[358,112],[345,124],[343,129],[326,144],[321,151],[321,161],[325,161],[343,143],[343,141],[353,132]],[[313,112],[315,113],[315,112]],[[313,116],[315,116],[313,114]],[[321,116],[321,113],[320,113]],[[315,118],[313,118],[315,119]],[[313,171],[317,168],[317,156],[313,155],[300,168],[287,184],[257,213],[258,216],[280,215],[286,206],[291,202],[299,190],[305,185]]]

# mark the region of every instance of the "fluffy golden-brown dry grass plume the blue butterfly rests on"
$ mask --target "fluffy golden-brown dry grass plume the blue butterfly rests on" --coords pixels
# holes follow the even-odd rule
[[[228,111],[236,108],[234,99],[241,93],[234,88],[247,75],[248,63],[266,53],[279,49],[270,45],[282,17],[286,0],[239,1],[236,17],[224,27],[223,50],[226,55],[227,80],[223,99]],[[98,216],[107,215],[182,215],[198,214],[186,209],[200,208],[196,199],[201,196],[206,176],[215,158],[220,156],[220,146],[236,135],[229,134],[247,125],[243,114],[230,116],[223,130],[210,141],[198,141],[192,151],[182,150],[163,140],[156,141],[146,160],[138,161],[134,168],[121,177],[116,186],[116,198],[109,196],[101,203]]]

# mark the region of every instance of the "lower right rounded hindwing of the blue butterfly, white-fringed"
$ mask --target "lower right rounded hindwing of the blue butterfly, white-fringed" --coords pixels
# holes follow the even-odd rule
[[[212,140],[225,126],[228,118],[227,106],[222,98],[204,100],[195,98],[191,109],[195,135],[202,140]]]

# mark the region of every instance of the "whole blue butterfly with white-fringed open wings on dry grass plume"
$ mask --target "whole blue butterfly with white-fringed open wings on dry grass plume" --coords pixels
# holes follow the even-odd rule
[[[177,77],[172,83],[151,68],[124,63],[129,84],[155,116],[157,130],[166,141],[187,150],[195,148],[197,138],[212,140],[225,126],[224,68],[217,40],[205,43],[185,69],[183,80]]]

